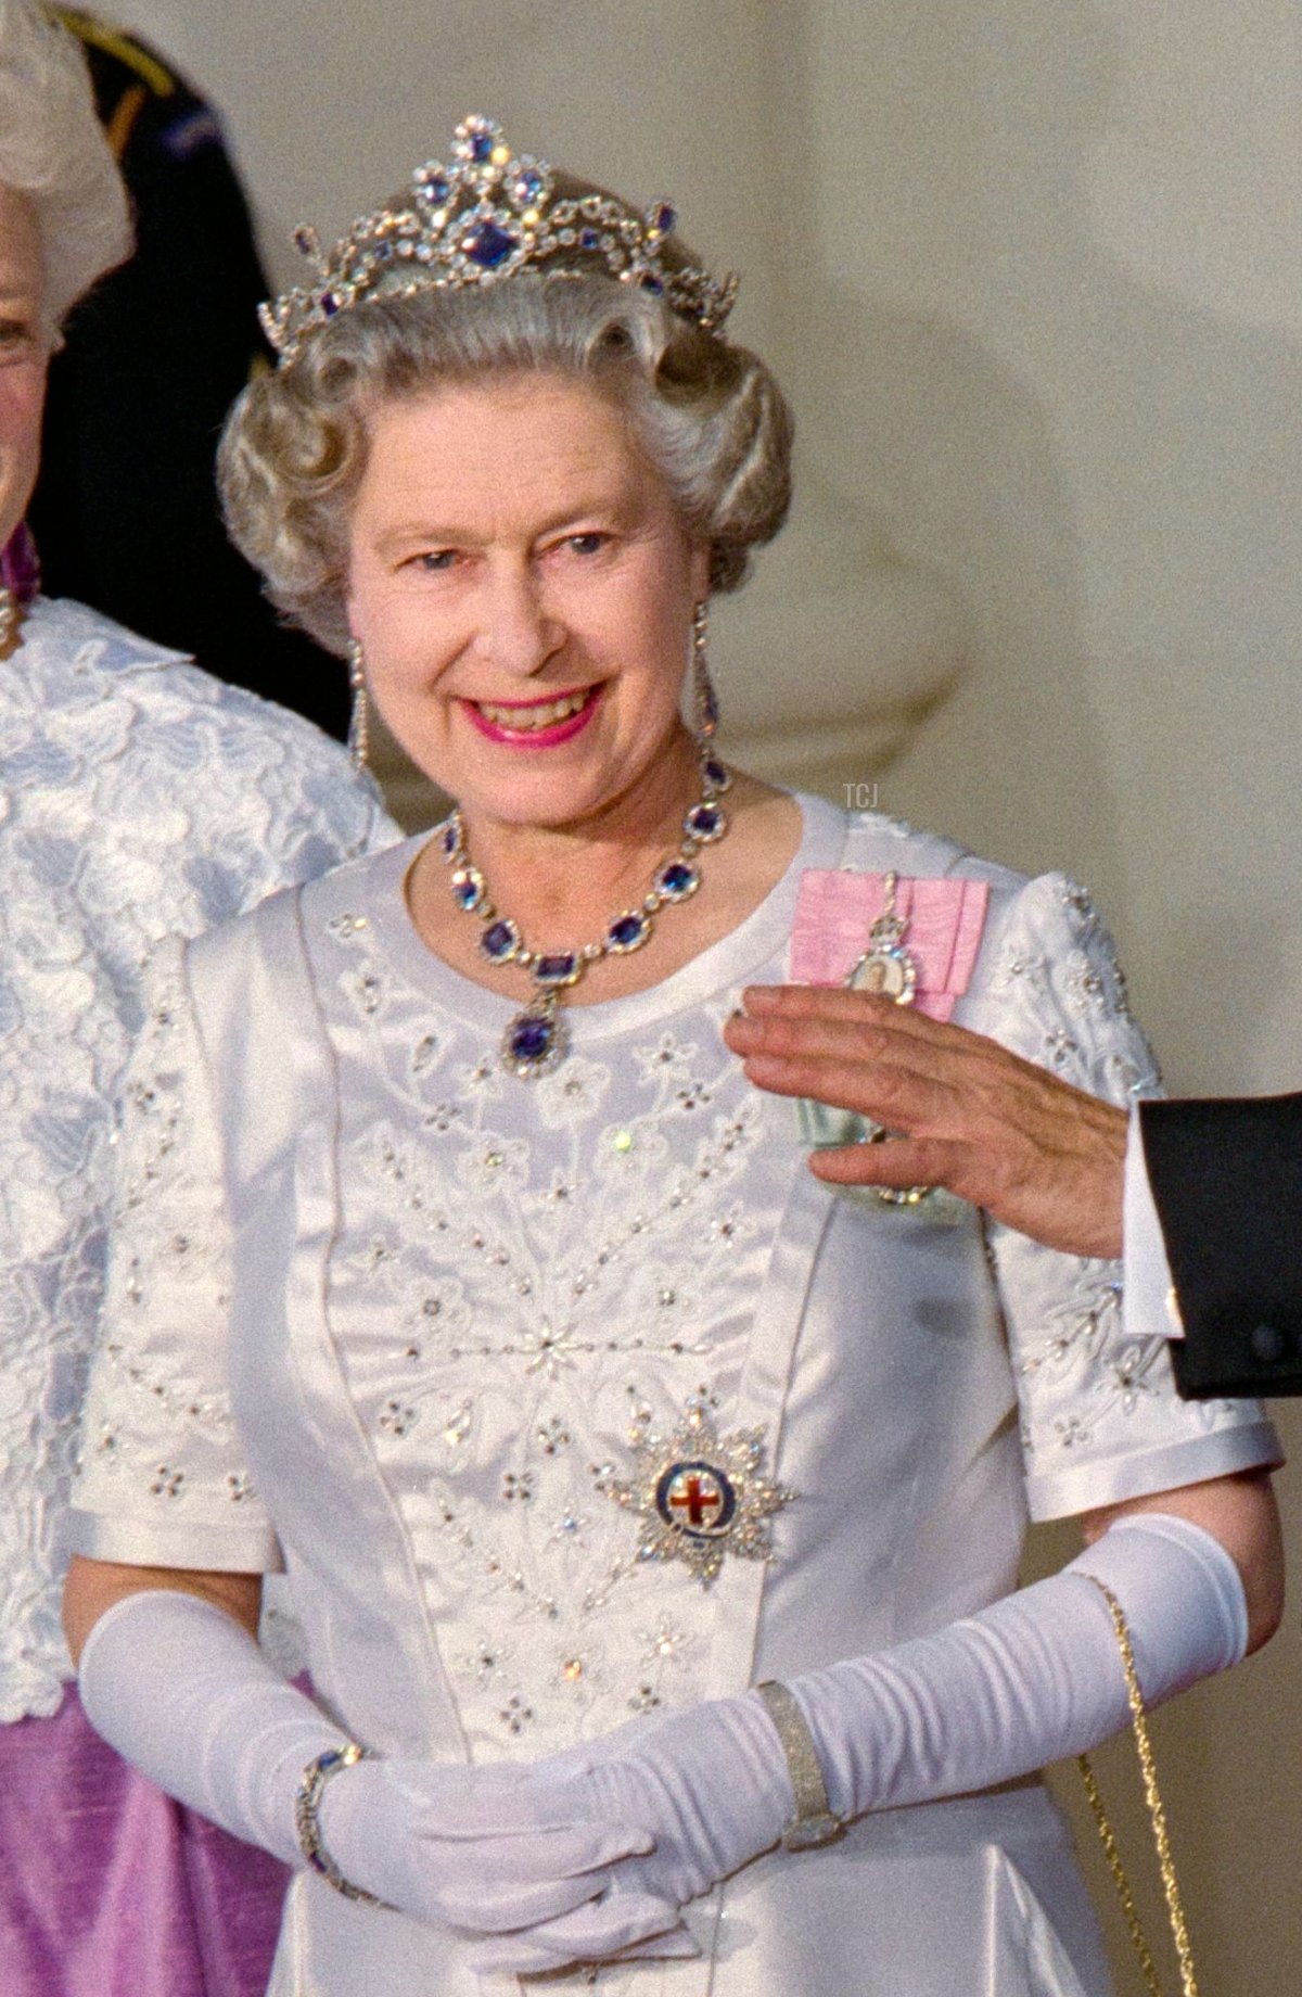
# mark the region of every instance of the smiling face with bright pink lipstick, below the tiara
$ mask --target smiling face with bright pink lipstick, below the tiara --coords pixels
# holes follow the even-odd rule
[[[471,815],[573,825],[625,797],[681,729],[707,579],[583,383],[509,375],[373,413],[349,621],[385,721]]]

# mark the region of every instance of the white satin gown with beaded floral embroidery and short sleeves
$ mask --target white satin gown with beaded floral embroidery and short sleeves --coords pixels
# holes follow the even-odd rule
[[[801,803],[769,899],[663,985],[571,1008],[531,1084],[497,1064],[513,1006],[411,929],[415,843],[158,961],[78,1544],[284,1558],[320,1693],[379,1751],[535,1757],[877,1650],[1006,1594],[1028,1512],[1276,1454],[1254,1404],[1176,1400],[1114,1266],[807,1170],[795,1104],[745,1082],[721,1024],[785,977],[809,867],[990,881],[955,1016],[1114,1100],[1152,1076],[1078,889]],[[695,1496],[661,1482],[675,1462],[707,1468]],[[709,1584],[665,1558],[703,1542],[657,1492],[667,1518],[731,1510]],[[597,1987],[1110,1987],[1034,1781],[769,1853],[689,1919],[697,1961]],[[276,1993],[479,1987],[443,1937],[296,1881]]]

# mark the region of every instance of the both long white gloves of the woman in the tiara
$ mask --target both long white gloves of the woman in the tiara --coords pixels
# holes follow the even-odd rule
[[[1190,1520],[1116,1520],[1062,1574],[933,1636],[791,1681],[833,1811],[963,1795],[1096,1745],[1128,1721],[1100,1586],[1130,1626],[1144,1697],[1242,1656],[1238,1568]],[[222,1610],[132,1596],[96,1624],[82,1697],[172,1795],[290,1863],[304,1767],[339,1745]],[[339,1871],[455,1929],[477,1969],[691,1953],[679,1909],[767,1851],[795,1795],[759,1693],[633,1721],[529,1765],[359,1761],[318,1821]]]

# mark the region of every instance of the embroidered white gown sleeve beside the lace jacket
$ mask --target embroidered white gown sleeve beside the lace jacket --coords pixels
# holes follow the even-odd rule
[[[70,1544],[136,1566],[276,1572],[226,1390],[230,1218],[182,943],[152,955],[142,998]]]

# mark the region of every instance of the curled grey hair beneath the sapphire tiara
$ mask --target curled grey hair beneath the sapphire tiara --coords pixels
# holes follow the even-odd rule
[[[371,298],[312,333],[232,409],[218,455],[226,523],[268,595],[329,651],[347,649],[347,527],[365,467],[365,413],[439,383],[559,373],[607,393],[685,529],[711,549],[711,589],[735,589],[791,497],[791,415],[745,347],[663,300],[599,276],[513,278]]]

